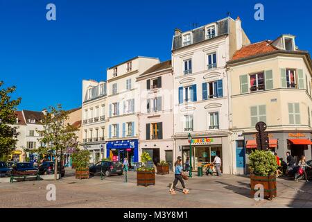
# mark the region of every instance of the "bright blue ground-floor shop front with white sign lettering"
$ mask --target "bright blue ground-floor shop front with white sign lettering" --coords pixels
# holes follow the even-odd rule
[[[123,158],[127,157],[130,167],[133,167],[135,162],[139,162],[138,144],[138,139],[109,141],[106,144],[107,158],[110,157],[113,161],[123,162]]]

